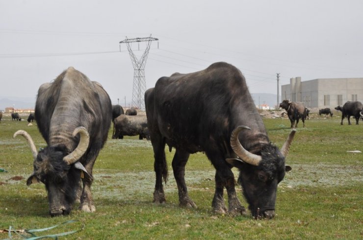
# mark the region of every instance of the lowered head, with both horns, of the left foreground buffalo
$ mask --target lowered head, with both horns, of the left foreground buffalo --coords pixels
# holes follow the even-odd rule
[[[89,144],[89,134],[84,127],[78,127],[73,136],[80,135],[77,148],[68,153],[64,145],[48,146],[41,149],[39,153],[31,136],[23,130],[14,133],[26,138],[33,154],[34,172],[26,180],[26,185],[42,182],[48,192],[49,210],[52,217],[68,215],[76,200],[80,188],[80,178],[92,178],[78,162],[79,158],[86,152]]]

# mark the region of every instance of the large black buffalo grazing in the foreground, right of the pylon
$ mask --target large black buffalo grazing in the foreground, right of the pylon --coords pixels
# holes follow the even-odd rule
[[[184,169],[190,153],[204,152],[216,169],[214,211],[246,214],[236,196],[234,166],[252,215],[274,217],[277,185],[291,169],[285,166],[285,156],[295,130],[281,151],[270,143],[245,78],[236,67],[215,63],[195,73],[162,77],[145,92],[145,107],[155,157],[154,202],[165,202],[162,179],[165,183],[168,179],[167,144],[169,150],[176,148],[172,166],[181,206],[196,207],[188,195]]]

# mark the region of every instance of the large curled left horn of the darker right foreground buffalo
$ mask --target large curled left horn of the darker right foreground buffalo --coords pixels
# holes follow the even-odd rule
[[[241,158],[244,162],[249,163],[254,166],[259,166],[259,162],[262,160],[262,157],[260,155],[253,154],[253,153],[250,153],[247,150],[245,150],[238,140],[239,132],[244,129],[251,130],[249,127],[246,127],[246,126],[238,126],[237,128],[235,128],[232,131],[231,147],[232,147],[234,153],[236,153],[237,156],[239,158]]]

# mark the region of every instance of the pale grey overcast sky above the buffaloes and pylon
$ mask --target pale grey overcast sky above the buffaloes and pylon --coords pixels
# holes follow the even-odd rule
[[[147,88],[219,61],[238,67],[251,93],[276,94],[276,73],[280,86],[297,76],[363,77],[362,12],[362,0],[0,0],[0,99],[35,100],[41,84],[74,66],[112,104],[128,104],[133,67],[119,42],[150,34],[159,40]],[[132,44],[139,58],[145,47]]]

